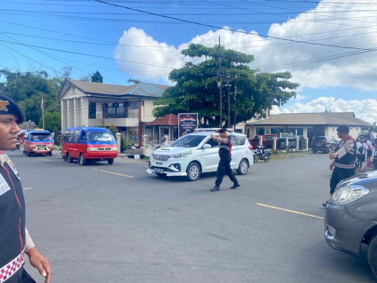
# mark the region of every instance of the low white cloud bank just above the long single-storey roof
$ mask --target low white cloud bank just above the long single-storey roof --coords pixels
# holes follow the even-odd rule
[[[314,113],[324,112],[354,112],[356,118],[369,123],[377,121],[377,100],[343,100],[333,97],[319,97],[307,103],[297,102],[291,106],[272,108],[271,114],[279,113]]]

